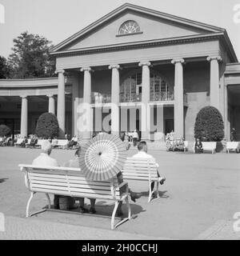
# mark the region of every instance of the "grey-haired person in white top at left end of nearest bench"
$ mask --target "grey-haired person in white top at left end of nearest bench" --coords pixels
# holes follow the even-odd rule
[[[42,153],[32,162],[34,166],[59,166],[56,159],[51,158],[52,145],[48,140],[42,142]],[[59,209],[59,195],[54,194],[54,208]]]

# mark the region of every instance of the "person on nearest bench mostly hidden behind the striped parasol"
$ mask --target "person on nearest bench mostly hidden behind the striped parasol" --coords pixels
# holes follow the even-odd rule
[[[79,148],[75,154],[74,154],[74,159],[70,159],[68,162],[64,163],[64,167],[73,167],[73,168],[79,168],[79,154],[81,152],[81,148]],[[88,212],[88,210],[86,210],[86,208],[84,208],[84,198],[78,198],[79,200],[79,209],[80,209],[80,213],[81,214],[84,214],[86,212]],[[90,210],[89,210],[89,213],[90,214],[95,214],[96,213],[96,210],[95,210],[95,202],[96,202],[96,199],[94,198],[90,198]]]

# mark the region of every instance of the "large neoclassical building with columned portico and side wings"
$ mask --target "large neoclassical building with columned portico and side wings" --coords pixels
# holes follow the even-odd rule
[[[226,30],[124,4],[51,51],[58,78],[0,80],[0,123],[33,134],[39,114],[57,115],[60,137],[142,132],[194,138],[203,106],[222,113],[240,139],[240,64]]]

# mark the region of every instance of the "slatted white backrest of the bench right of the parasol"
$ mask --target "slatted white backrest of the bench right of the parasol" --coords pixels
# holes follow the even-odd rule
[[[122,168],[123,179],[158,178],[156,162],[150,158],[127,158]]]

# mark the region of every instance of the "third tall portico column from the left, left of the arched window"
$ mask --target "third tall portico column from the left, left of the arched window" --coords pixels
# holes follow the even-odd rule
[[[111,88],[111,133],[119,136],[119,65],[110,65],[112,70],[112,88]]]

